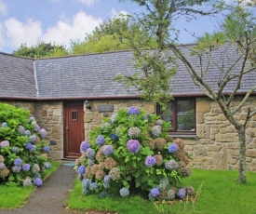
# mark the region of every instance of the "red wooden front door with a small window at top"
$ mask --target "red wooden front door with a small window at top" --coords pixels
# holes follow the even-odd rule
[[[85,139],[83,102],[65,104],[64,132],[64,156],[66,158],[80,156],[80,144]]]

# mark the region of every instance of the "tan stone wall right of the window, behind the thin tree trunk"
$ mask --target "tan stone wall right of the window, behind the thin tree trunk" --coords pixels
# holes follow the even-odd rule
[[[234,102],[235,106],[237,103]],[[256,107],[250,99],[236,117],[245,121],[249,107]],[[246,131],[247,169],[256,171],[256,115],[249,121]],[[237,169],[239,143],[236,128],[222,114],[216,102],[206,98],[196,99],[196,138],[184,140],[191,165],[198,168]]]

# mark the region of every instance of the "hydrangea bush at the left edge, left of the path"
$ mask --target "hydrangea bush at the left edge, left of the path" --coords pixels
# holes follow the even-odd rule
[[[41,186],[50,167],[46,137],[28,111],[0,103],[0,183]]]

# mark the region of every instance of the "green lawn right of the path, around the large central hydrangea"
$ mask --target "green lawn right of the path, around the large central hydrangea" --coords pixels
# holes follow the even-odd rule
[[[140,195],[128,198],[100,199],[98,195],[81,195],[80,181],[75,181],[74,191],[67,201],[68,207],[82,210],[107,210],[121,214],[202,213],[202,214],[256,214],[256,173],[247,174],[247,184],[237,184],[237,171],[194,169],[184,180],[197,191],[197,199],[176,201],[172,204],[150,203]]]

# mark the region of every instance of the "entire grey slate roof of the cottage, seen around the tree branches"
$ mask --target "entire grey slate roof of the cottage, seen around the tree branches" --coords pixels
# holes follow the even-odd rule
[[[190,54],[192,45],[180,47],[189,61],[201,72],[200,61]],[[171,53],[169,53],[171,54]],[[222,79],[220,68],[228,68],[236,59],[236,49],[228,45],[211,52],[209,73],[205,79],[210,87],[217,90],[218,81]],[[131,51],[118,51],[102,54],[88,54],[53,59],[29,60],[0,54],[0,72],[5,80],[0,80],[0,98],[3,94],[10,97],[29,97],[39,100],[68,100],[89,98],[128,98],[137,97],[135,88],[125,88],[115,82],[116,74],[134,74],[133,55]],[[2,60],[4,66],[2,65]],[[203,68],[207,66],[203,60]],[[33,68],[34,64],[34,68]],[[202,96],[202,90],[195,86],[181,61],[177,61],[178,72],[171,82],[173,96]],[[238,72],[235,67],[234,73]],[[13,76],[15,82],[13,82]],[[36,84],[34,83],[36,79]],[[19,80],[19,81],[18,81]],[[3,82],[7,84],[4,92]],[[256,72],[243,78],[238,92],[246,92],[256,83]],[[12,84],[12,85],[11,85]],[[224,92],[230,92],[236,81],[227,85]]]

